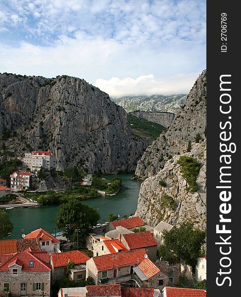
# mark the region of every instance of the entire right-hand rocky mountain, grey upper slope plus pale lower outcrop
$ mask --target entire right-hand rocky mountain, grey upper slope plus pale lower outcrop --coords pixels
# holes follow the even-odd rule
[[[149,176],[141,185],[136,211],[145,223],[156,226],[163,220],[176,226],[189,220],[195,227],[205,228],[205,125],[203,71],[169,129],[146,149],[138,162],[136,175]]]

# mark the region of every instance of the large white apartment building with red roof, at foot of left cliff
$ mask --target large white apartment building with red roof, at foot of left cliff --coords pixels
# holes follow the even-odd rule
[[[56,157],[50,151],[32,151],[26,152],[23,157],[24,165],[28,166],[31,171],[38,171],[41,167],[48,169],[55,168]]]

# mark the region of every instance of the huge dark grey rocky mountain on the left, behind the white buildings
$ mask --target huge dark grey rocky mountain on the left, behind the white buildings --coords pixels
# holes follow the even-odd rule
[[[85,80],[66,75],[0,74],[0,134],[1,146],[16,156],[52,151],[57,170],[134,171],[146,148],[122,107]]]

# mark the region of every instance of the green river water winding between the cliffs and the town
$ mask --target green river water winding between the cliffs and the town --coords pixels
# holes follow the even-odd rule
[[[113,176],[107,175],[112,179]],[[100,214],[99,223],[108,221],[108,214],[130,215],[137,209],[138,195],[140,191],[140,181],[131,180],[132,174],[119,174],[114,178],[121,178],[122,189],[115,196],[102,196],[82,201],[83,204],[98,208]],[[28,234],[33,230],[43,228],[52,233],[55,230],[56,214],[59,205],[48,205],[41,207],[21,208],[16,207],[6,210],[11,222],[14,225],[13,232],[9,239],[21,238],[22,234]]]

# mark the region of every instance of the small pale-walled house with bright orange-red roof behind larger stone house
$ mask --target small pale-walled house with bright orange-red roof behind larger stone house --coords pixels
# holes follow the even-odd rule
[[[101,238],[101,241],[94,244],[93,247],[94,256],[96,257],[127,250],[118,239],[108,240],[106,238]]]

